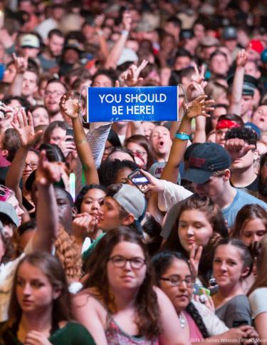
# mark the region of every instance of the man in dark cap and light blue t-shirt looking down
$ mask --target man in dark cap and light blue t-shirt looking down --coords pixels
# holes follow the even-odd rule
[[[231,148],[229,148],[231,149]],[[239,155],[245,155],[251,145],[244,144]],[[184,172],[184,179],[192,182],[194,192],[208,196],[221,208],[229,227],[234,225],[239,210],[248,204],[258,204],[267,210],[266,202],[253,197],[243,190],[231,186],[231,157],[221,145],[216,143],[198,144],[190,154],[189,167]],[[179,210],[180,202],[173,205],[167,213],[160,235],[167,238]]]

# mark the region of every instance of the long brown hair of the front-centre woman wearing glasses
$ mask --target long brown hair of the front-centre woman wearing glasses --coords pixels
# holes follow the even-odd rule
[[[109,289],[107,264],[112,249],[122,241],[138,244],[145,255],[147,272],[135,299],[137,315],[135,322],[142,336],[155,339],[159,334],[159,305],[157,294],[153,289],[154,277],[150,257],[142,237],[137,231],[128,227],[118,227],[107,232],[98,242],[88,260],[89,278],[85,282],[85,288],[95,288],[98,292],[97,297],[103,300],[106,309],[116,311],[115,300]]]

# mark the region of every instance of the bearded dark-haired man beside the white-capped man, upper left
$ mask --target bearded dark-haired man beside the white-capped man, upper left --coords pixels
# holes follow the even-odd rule
[[[49,31],[46,50],[38,56],[43,71],[58,67],[57,58],[61,56],[64,46],[64,35],[58,29]]]

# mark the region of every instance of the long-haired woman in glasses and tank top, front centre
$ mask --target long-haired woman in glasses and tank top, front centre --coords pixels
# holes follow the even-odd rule
[[[149,254],[135,230],[107,232],[88,272],[73,311],[96,344],[187,344],[172,304],[153,287]]]

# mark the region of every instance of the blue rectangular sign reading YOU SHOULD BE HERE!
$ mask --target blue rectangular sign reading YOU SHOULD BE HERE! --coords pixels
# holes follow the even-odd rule
[[[88,88],[88,122],[177,121],[178,86]]]

